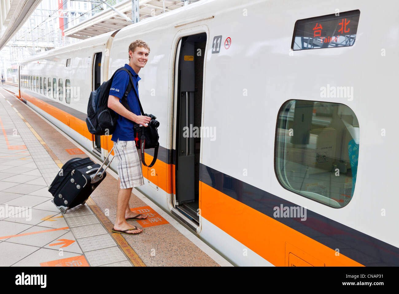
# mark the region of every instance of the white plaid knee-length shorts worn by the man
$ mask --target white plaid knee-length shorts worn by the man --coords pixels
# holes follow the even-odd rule
[[[144,185],[141,166],[141,153],[138,152],[134,141],[114,142],[114,151],[119,160],[118,176],[120,188],[127,189]]]

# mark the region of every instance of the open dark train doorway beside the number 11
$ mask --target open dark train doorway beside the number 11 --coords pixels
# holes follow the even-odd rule
[[[175,60],[174,207],[199,224],[199,156],[206,33],[180,39]],[[177,69],[177,70],[176,70]]]

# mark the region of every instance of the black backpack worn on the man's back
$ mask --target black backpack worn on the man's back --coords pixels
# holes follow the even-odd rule
[[[121,67],[114,72],[107,82],[103,82],[97,90],[90,93],[89,103],[87,104],[86,124],[87,129],[93,135],[111,135],[117,126],[118,114],[108,108],[108,97],[114,76],[119,70],[124,70],[129,74],[129,83],[122,97],[122,105],[128,108],[126,107],[128,106],[127,95],[132,90],[132,73],[128,69]]]

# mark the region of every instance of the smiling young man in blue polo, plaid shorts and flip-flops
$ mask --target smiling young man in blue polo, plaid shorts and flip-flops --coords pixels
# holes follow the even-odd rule
[[[133,75],[133,83],[138,94],[138,81],[140,77],[138,72],[143,68],[150,54],[150,47],[142,40],[136,40],[129,45],[129,64],[124,67],[130,70]],[[118,164],[118,200],[117,200],[117,220],[113,228],[113,232],[121,234],[138,234],[142,229],[128,224],[126,220],[141,220],[146,216],[135,214],[129,208],[130,194],[132,188],[144,185],[144,178],[141,167],[141,156],[138,152],[134,141],[134,124],[142,124],[147,127],[147,123],[151,118],[142,116],[140,106],[134,90],[132,89],[127,101],[130,112],[121,103],[124,92],[129,83],[129,75],[127,72],[120,70],[114,76],[111,90],[109,91],[108,107],[119,114],[117,126],[112,134],[111,140],[114,142],[114,152],[119,160]]]

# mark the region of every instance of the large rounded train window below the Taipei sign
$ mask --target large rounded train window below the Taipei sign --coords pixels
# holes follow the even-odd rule
[[[339,103],[289,100],[280,108],[275,172],[296,194],[334,208],[353,197],[359,158],[359,123]]]

